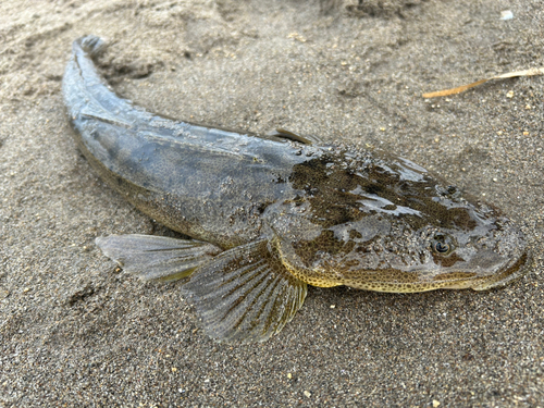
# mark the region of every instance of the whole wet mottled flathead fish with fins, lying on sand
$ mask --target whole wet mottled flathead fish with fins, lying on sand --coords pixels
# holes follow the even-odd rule
[[[527,269],[508,218],[409,160],[151,114],[97,73],[91,57],[102,48],[94,36],[74,41],[65,70],[77,146],[136,208],[193,239],[97,244],[140,277],[190,275],[184,290],[211,337],[269,338],[301,307],[307,284],[480,290]]]

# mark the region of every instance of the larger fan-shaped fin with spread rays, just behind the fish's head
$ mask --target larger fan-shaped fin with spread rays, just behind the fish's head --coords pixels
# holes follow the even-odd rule
[[[225,343],[263,342],[293,319],[307,285],[293,276],[268,240],[230,249],[183,286],[205,332]]]

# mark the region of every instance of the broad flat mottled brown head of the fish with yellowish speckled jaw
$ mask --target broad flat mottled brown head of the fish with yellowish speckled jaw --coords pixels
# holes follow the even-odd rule
[[[403,158],[374,153],[346,162],[324,154],[290,178],[304,199],[283,203],[274,232],[297,277],[408,293],[489,289],[526,271],[523,234],[497,208]]]

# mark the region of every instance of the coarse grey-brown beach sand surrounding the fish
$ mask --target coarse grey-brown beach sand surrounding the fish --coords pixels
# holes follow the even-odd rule
[[[356,3],[0,3],[0,406],[544,406],[544,77],[420,97],[544,65],[542,0]],[[533,267],[486,293],[310,288],[271,341],[214,344],[178,284],[127,276],[94,244],[169,232],[71,138],[61,78],[84,34],[108,39],[104,74],[151,111],[434,170],[517,220]]]

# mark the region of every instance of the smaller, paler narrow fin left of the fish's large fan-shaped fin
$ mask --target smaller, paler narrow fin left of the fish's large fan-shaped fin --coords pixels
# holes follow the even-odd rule
[[[98,237],[96,244],[123,270],[146,281],[186,277],[221,252],[199,240],[140,234]]]

